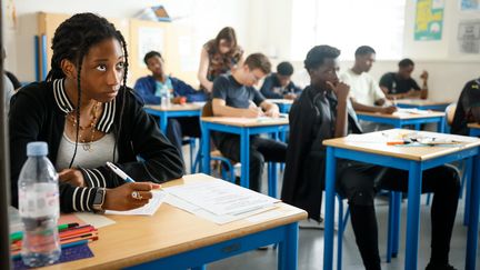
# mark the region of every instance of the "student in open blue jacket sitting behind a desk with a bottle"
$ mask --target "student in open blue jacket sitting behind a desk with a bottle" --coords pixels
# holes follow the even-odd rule
[[[172,94],[172,103],[206,101],[207,96],[202,91],[194,90],[180,79],[164,73],[164,61],[160,52],[150,51],[143,58],[151,76],[137,80],[134,90],[142,97],[147,104],[160,104],[163,89]],[[167,138],[182,153],[183,136],[200,137],[200,122],[198,117],[169,118],[167,126]]]

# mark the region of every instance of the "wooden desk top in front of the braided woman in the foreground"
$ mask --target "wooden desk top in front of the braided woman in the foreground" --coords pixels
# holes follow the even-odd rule
[[[162,186],[199,181],[222,180],[199,173]],[[100,228],[99,240],[89,243],[94,257],[44,269],[120,269],[307,218],[307,212],[301,209],[286,203],[279,206],[270,210],[278,214],[267,217],[263,221],[239,220],[223,226],[198,218],[168,203],[163,203],[152,217],[107,216],[117,223]]]

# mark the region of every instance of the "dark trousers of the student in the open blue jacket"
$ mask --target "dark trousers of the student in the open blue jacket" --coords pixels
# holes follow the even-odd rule
[[[168,120],[167,139],[177,147],[182,159],[183,137],[200,138],[200,120],[198,117],[169,118]]]

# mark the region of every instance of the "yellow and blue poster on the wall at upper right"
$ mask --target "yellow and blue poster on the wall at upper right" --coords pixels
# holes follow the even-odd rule
[[[443,29],[443,0],[418,0],[414,40],[441,40]]]

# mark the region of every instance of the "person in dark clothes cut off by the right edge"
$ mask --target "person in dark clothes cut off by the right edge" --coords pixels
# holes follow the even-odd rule
[[[480,123],[480,79],[471,80],[463,87],[457,102],[451,133],[469,136],[468,123]]]

